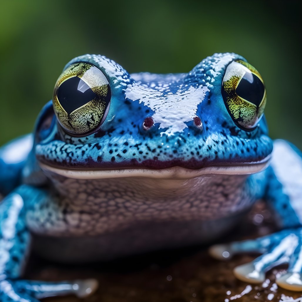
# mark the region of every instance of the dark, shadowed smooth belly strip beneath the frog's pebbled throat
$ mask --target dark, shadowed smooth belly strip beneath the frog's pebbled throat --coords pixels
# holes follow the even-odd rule
[[[213,242],[238,221],[239,215],[218,221],[140,223],[134,228],[99,236],[34,235],[34,250],[46,259],[80,263],[110,260],[160,249]]]

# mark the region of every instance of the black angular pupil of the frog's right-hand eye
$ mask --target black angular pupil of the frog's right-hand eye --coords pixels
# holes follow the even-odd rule
[[[256,75],[246,72],[236,88],[236,93],[258,107],[264,95],[264,85]]]

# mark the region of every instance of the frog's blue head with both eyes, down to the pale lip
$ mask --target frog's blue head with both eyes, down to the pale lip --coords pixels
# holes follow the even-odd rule
[[[259,72],[234,53],[165,75],[79,56],[40,113],[35,153],[42,169],[73,178],[251,174],[272,151],[265,102]]]

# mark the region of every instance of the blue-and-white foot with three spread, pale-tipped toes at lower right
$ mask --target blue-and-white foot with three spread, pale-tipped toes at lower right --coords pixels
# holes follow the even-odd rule
[[[291,291],[302,291],[302,229],[283,230],[255,240],[245,240],[210,247],[210,255],[230,259],[234,254],[259,252],[261,256],[250,263],[234,268],[234,275],[243,281],[260,283],[265,272],[281,263],[288,263],[288,271],[276,283]]]

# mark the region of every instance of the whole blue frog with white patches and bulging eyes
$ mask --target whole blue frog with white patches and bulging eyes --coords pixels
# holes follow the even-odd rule
[[[260,73],[235,53],[176,74],[72,59],[33,133],[0,149],[0,300],[98,288],[24,280],[32,250],[80,264],[196,244],[217,259],[259,252],[234,269],[251,283],[288,263],[277,284],[302,291],[301,152],[268,136],[266,101]],[[215,244],[259,199],[279,231]]]

